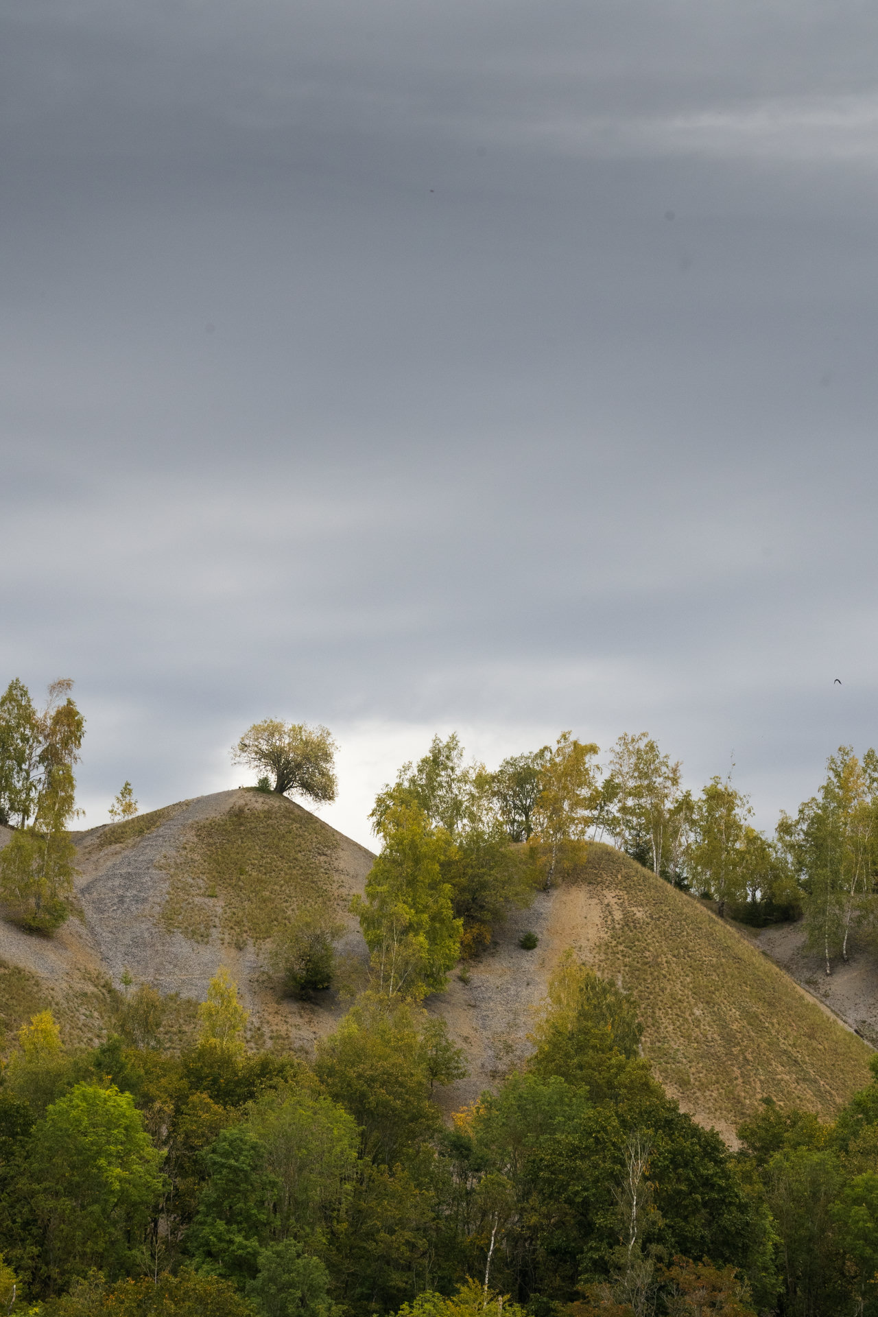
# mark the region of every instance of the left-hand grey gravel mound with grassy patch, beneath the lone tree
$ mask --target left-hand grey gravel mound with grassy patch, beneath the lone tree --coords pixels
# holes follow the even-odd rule
[[[3,842],[3,839],[0,839]],[[365,956],[350,898],[374,856],[283,797],[217,792],[76,836],[78,911],[53,939],[0,921],[0,961],[28,972],[63,1004],[83,984],[124,979],[203,1001],[229,968],[263,1034],[311,1043],[340,1005],[279,1000],[267,943],[321,896]]]

